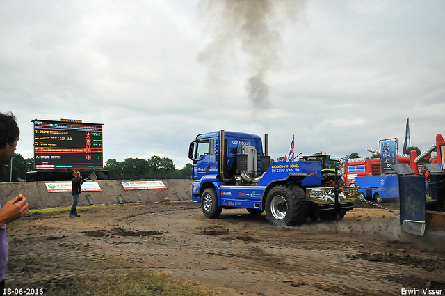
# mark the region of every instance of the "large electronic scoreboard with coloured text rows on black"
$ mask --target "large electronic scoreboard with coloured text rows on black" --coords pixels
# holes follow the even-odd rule
[[[102,168],[102,123],[32,120],[35,169]]]

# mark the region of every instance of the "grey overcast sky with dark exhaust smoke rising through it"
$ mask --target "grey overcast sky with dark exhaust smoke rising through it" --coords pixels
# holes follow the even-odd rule
[[[104,124],[104,162],[168,157],[214,130],[269,154],[378,149],[410,118],[445,135],[445,1],[0,1],[0,111]]]

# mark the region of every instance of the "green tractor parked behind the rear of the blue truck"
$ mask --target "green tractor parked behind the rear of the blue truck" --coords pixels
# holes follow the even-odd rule
[[[304,155],[300,160],[309,160],[312,162],[321,162],[321,183],[325,186],[344,186],[345,182],[341,178],[343,174],[339,167],[343,167],[341,159],[334,158],[330,154]]]

